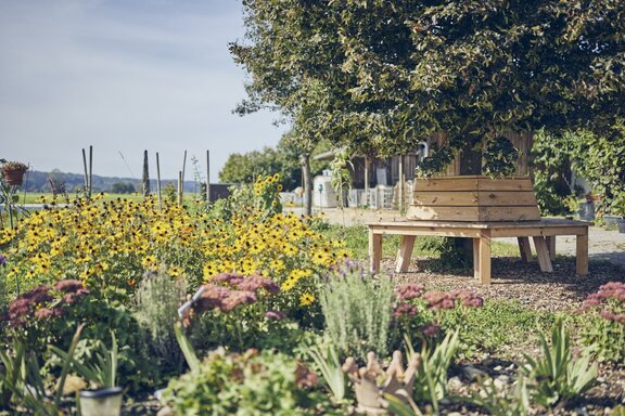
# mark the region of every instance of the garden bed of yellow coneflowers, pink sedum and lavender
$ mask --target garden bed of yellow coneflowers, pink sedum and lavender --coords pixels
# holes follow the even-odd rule
[[[516,390],[488,387],[483,374],[484,385],[471,386],[477,395],[449,401],[454,365],[497,351],[486,340],[501,335],[480,323],[503,321],[496,313],[510,325],[534,318],[465,289],[398,285],[345,263],[350,253],[322,222],[281,212],[278,190],[279,178],[259,178],[212,207],[48,202],[2,230],[0,411],[73,412],[72,392],[104,379],[80,370],[94,356],[109,363],[100,372],[115,369],[129,413],[168,386],[156,407],[215,415],[347,414],[356,403],[346,387],[363,379],[382,389],[373,394],[380,412],[548,412],[583,400],[597,360],[623,368],[625,298],[612,283],[576,315],[579,338],[560,323],[524,361],[527,370],[510,375]],[[590,347],[587,361],[573,359],[574,344]],[[556,375],[543,361],[554,346]],[[394,350],[410,363],[410,399],[384,394],[392,377],[409,386],[399,354],[386,369]]]

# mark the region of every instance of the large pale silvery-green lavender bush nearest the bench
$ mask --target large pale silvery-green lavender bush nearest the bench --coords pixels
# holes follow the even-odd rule
[[[326,334],[342,354],[365,360],[367,352],[386,354],[395,300],[393,282],[345,263],[321,282],[319,302]]]

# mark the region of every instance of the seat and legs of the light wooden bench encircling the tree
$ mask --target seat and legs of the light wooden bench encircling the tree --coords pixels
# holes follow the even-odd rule
[[[396,272],[407,272],[414,238],[420,235],[473,238],[473,275],[482,284],[490,284],[490,242],[496,237],[518,237],[521,259],[532,260],[530,237],[534,239],[538,264],[543,272],[552,272],[556,258],[556,236],[575,235],[577,274],[588,273],[589,222],[543,219],[520,222],[460,222],[460,221],[393,221],[375,222],[369,226],[369,261],[373,273],[380,270],[382,236],[401,235],[397,251]]]

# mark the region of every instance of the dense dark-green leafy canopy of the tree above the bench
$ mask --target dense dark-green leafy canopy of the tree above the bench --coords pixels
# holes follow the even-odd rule
[[[247,34],[231,44],[250,73],[239,110],[278,108],[302,148],[330,138],[392,155],[444,132],[443,166],[454,151],[505,132],[609,135],[624,116],[621,0],[244,0],[243,8]]]

